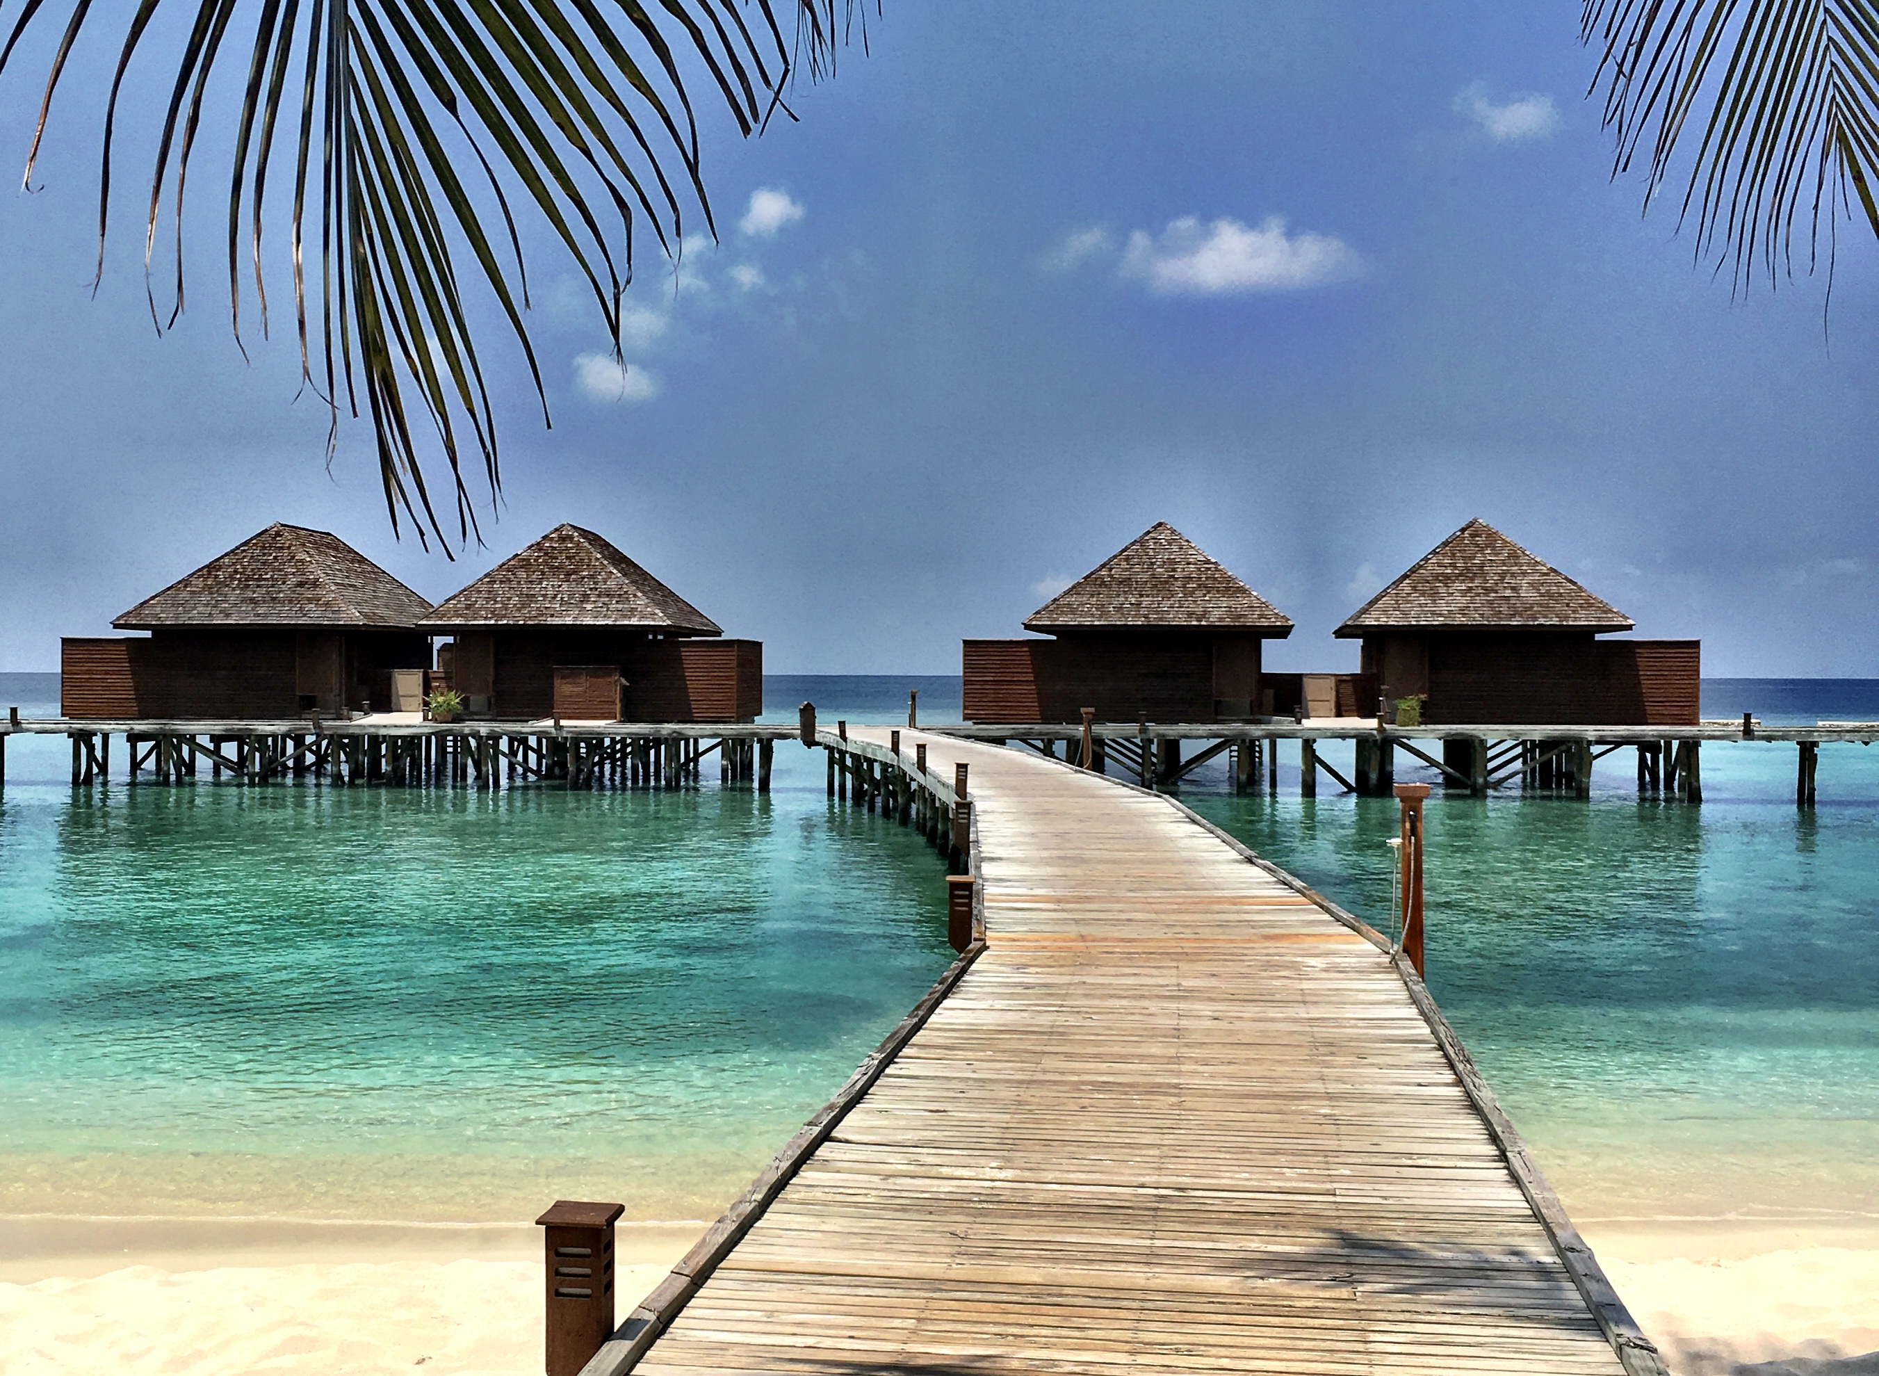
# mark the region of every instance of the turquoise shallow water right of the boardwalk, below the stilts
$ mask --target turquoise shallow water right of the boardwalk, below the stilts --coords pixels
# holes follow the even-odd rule
[[[1184,797],[1387,930],[1394,801],[1281,761],[1276,799]],[[1582,1220],[1879,1218],[1879,750],[1823,746],[1811,814],[1791,744],[1706,744],[1700,806],[1638,799],[1629,752],[1593,780],[1428,808],[1430,991],[1556,1188]]]

